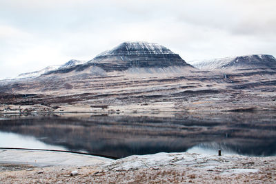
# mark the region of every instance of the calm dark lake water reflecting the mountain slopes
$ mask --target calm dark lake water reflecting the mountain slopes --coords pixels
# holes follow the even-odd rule
[[[1,116],[0,147],[117,158],[157,152],[276,155],[276,113]]]

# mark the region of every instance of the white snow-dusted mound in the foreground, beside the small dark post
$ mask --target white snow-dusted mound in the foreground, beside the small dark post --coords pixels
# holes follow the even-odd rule
[[[258,172],[257,167],[234,167],[233,163],[242,161],[243,159],[256,159],[257,157],[246,157],[239,155],[211,155],[211,154],[195,154],[195,153],[157,153],[148,155],[133,155],[124,159],[113,161],[103,166],[103,170],[139,170],[141,168],[152,168],[157,170],[159,167],[175,166],[175,167],[201,167],[202,170],[215,169],[221,174],[228,172]],[[265,158],[265,157],[264,157]],[[270,157],[268,157],[270,158]],[[252,163],[244,163],[244,165],[253,165]],[[276,166],[276,165],[275,165]],[[230,169],[229,169],[230,168]]]

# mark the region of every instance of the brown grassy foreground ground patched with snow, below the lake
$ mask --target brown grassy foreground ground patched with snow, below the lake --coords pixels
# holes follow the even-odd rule
[[[46,155],[45,155],[46,156]],[[77,176],[70,176],[77,170]],[[72,166],[1,164],[0,183],[275,183],[276,157],[159,153]]]

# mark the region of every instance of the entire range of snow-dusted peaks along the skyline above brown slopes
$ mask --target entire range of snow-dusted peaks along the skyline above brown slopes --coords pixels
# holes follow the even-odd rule
[[[269,63],[268,60],[275,62]],[[88,68],[90,68],[91,74],[100,74],[100,71],[106,73],[124,71],[131,68],[168,68],[172,66],[210,71],[226,70],[229,68],[245,68],[248,70],[269,68],[276,70],[276,59],[269,54],[250,54],[237,57],[197,60],[186,63],[184,59],[181,59],[179,54],[175,54],[158,43],[126,41],[120,43],[115,48],[101,52],[89,61],[71,59],[63,65],[52,65],[42,70],[19,74],[15,79],[68,73],[72,71],[81,72]],[[138,70],[131,69],[130,71]]]

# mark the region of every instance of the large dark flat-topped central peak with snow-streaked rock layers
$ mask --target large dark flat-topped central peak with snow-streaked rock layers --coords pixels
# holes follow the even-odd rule
[[[94,59],[71,68],[62,68],[51,73],[80,72],[91,67],[103,69],[105,72],[123,71],[129,68],[166,68],[184,66],[193,68],[179,54],[157,43],[124,42],[112,50],[97,55]]]

